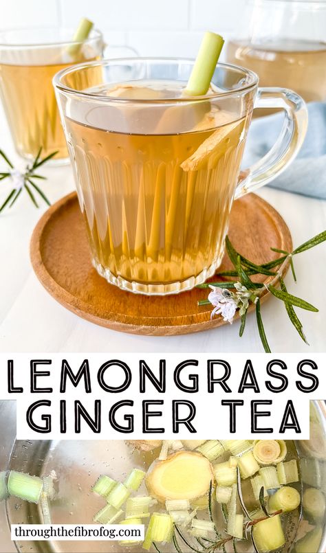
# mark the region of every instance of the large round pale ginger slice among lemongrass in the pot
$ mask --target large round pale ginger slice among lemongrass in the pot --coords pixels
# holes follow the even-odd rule
[[[155,461],[145,483],[151,497],[165,503],[166,499],[202,497],[213,479],[212,465],[204,455],[180,451],[164,461]]]

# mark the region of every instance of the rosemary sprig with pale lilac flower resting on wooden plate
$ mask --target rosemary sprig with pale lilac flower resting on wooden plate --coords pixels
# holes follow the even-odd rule
[[[281,253],[281,257],[271,260],[267,263],[258,265],[239,253],[235,247],[231,244],[230,238],[226,236],[226,251],[228,257],[232,262],[234,269],[232,271],[223,271],[219,273],[221,277],[233,277],[237,280],[228,280],[222,282],[208,282],[200,284],[199,288],[210,289],[210,294],[207,300],[199,300],[198,305],[212,304],[214,306],[212,316],[222,315],[225,321],[232,324],[233,317],[237,310],[241,317],[241,325],[239,329],[239,335],[243,335],[243,331],[246,325],[246,315],[250,305],[254,304],[256,308],[256,320],[257,328],[259,331],[259,337],[265,352],[270,353],[270,346],[265,334],[265,328],[263,326],[263,319],[261,317],[261,301],[260,298],[267,289],[274,297],[281,300],[285,306],[286,313],[296,328],[298,335],[307,342],[305,334],[303,332],[303,326],[298,319],[294,307],[305,309],[306,311],[318,312],[318,308],[307,302],[306,300],[296,297],[287,292],[284,284],[282,274],[283,269],[290,264],[292,270],[292,276],[294,282],[296,282],[296,272],[294,270],[293,258],[298,253],[302,253],[307,249],[317,246],[326,240],[326,231],[320,232],[307,242],[304,242],[301,246],[298,246],[293,251],[285,251],[284,249],[271,248],[276,253]],[[271,269],[276,269],[276,272]],[[252,282],[252,275],[265,275],[270,276],[270,282],[264,284]],[[278,287],[279,286],[279,287]]]

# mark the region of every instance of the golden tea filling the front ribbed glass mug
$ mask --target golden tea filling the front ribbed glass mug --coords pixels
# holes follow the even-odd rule
[[[134,93],[135,87],[124,98]],[[149,84],[141,92],[151,93]],[[166,109],[156,134],[110,132],[110,120],[97,128],[66,118],[94,264],[110,282],[129,282],[128,289],[133,281],[138,291],[142,284],[144,291],[164,284],[164,293],[169,283],[192,287],[198,275],[214,273],[224,252],[246,119],[199,109],[192,131],[164,134],[164,120],[178,116]]]

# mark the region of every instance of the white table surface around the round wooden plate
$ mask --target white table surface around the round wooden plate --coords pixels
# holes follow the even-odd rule
[[[0,111],[0,148],[14,163],[24,162],[14,153],[3,112]],[[0,161],[0,170],[5,164]],[[43,168],[43,185],[54,202],[74,190],[69,166]],[[0,181],[0,201],[10,189]],[[272,188],[261,196],[278,210],[290,227],[294,246],[326,228],[326,201],[289,194]],[[29,257],[32,230],[46,206],[36,210],[26,194],[0,214],[0,351],[1,352],[261,352],[254,314],[247,317],[240,339],[239,322],[192,335],[149,337],[127,335],[80,319],[52,296],[37,280]],[[262,306],[265,331],[272,352],[321,352],[326,350],[326,245],[301,253],[296,259],[298,283],[290,274],[288,290],[319,308],[319,313],[297,313],[310,343],[306,346],[290,324],[283,302],[271,297]]]

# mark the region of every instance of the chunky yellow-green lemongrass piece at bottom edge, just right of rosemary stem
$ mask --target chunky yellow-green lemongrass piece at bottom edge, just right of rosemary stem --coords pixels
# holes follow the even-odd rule
[[[257,522],[252,537],[259,553],[269,553],[285,544],[285,536],[279,515]]]

